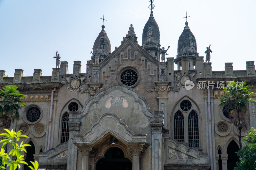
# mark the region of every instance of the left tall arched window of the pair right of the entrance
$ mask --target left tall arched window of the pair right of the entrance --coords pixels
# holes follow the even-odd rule
[[[174,139],[184,142],[184,116],[180,111],[174,115]]]

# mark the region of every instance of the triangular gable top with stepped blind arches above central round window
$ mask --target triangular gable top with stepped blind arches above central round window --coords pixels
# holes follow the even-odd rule
[[[159,61],[155,57],[150,55],[138,43],[132,39],[128,39],[100,63],[100,69],[106,67],[112,60],[114,60],[116,64],[125,63],[128,60],[134,60],[135,62],[142,64],[143,57],[145,61],[154,64],[156,67],[159,66]]]

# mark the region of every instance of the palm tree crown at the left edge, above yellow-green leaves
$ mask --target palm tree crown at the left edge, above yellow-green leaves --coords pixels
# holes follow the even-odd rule
[[[20,99],[27,95],[20,94],[17,88],[16,85],[6,85],[3,90],[0,89],[0,122],[7,129],[10,128],[11,122],[20,119],[18,109],[26,107],[26,103]]]

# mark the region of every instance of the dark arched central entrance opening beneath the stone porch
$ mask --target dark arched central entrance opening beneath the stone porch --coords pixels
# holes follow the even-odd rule
[[[124,152],[120,148],[110,148],[105,158],[96,164],[96,170],[132,170],[132,162],[124,158]]]

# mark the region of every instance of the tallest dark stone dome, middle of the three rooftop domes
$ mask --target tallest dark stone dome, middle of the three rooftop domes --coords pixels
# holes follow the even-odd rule
[[[148,22],[145,24],[142,33],[142,45],[144,48],[156,49],[160,47],[160,32],[156,20],[153,16],[153,11],[150,12]]]

